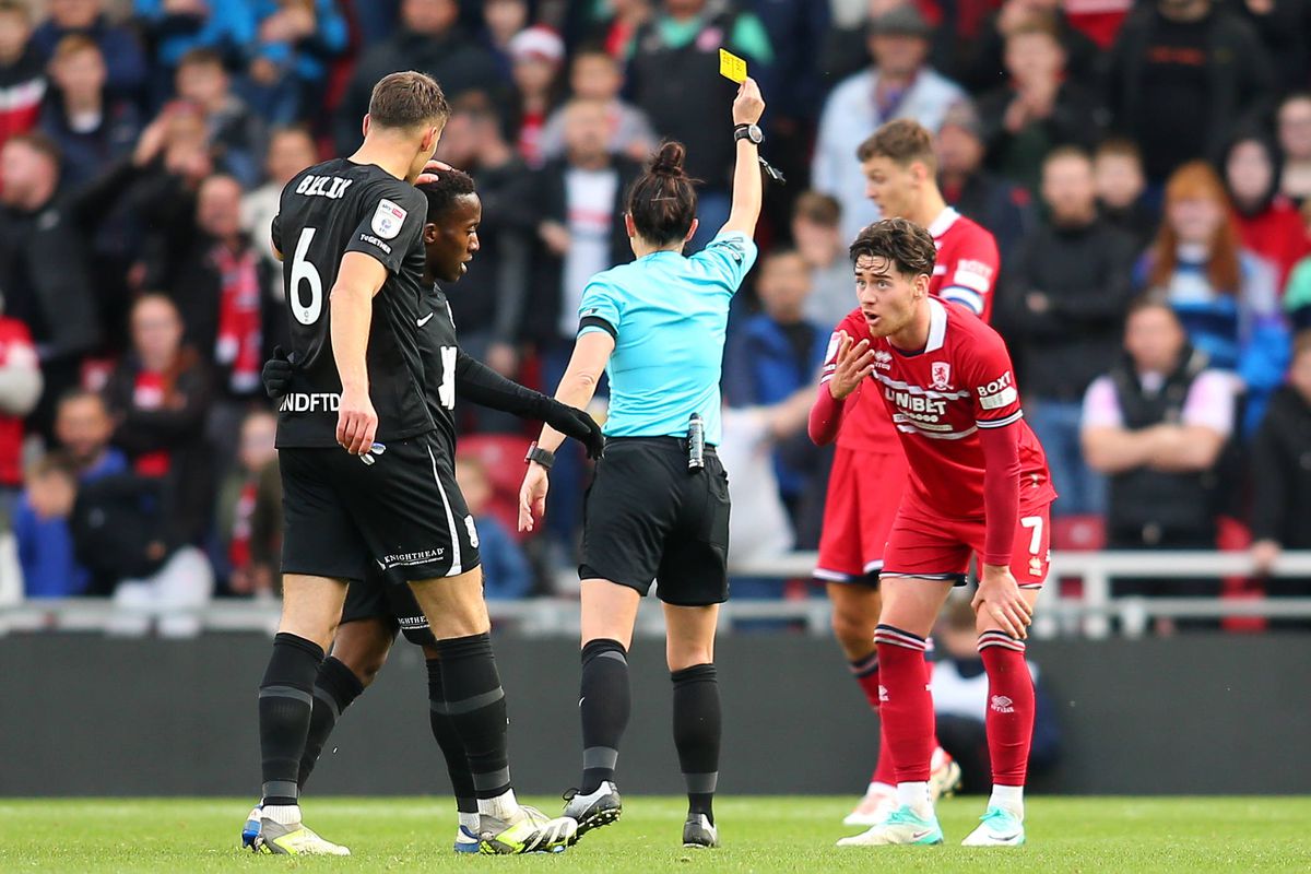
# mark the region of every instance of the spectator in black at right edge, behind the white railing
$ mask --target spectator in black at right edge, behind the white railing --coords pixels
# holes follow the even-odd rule
[[[1251,459],[1252,558],[1260,573],[1269,573],[1282,550],[1311,549],[1311,333],[1294,342],[1289,381],[1270,401]],[[1272,583],[1268,591],[1291,594],[1289,583]]]

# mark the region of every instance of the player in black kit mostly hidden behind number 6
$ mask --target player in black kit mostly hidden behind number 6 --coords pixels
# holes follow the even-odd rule
[[[583,440],[589,455],[599,455],[603,438],[591,417],[505,379],[459,347],[450,305],[437,283],[458,282],[477,253],[482,204],[475,193],[473,180],[459,170],[444,172],[437,182],[418,189],[427,198],[427,223],[423,225],[427,303],[422,309],[433,313],[420,332],[420,350],[427,370],[429,411],[438,425],[438,439],[447,456],[454,456],[455,451],[452,414],[456,398],[471,398],[481,406],[551,422],[552,427]],[[454,362],[452,355],[442,350],[455,350]],[[283,398],[292,373],[294,366],[286,358],[265,364],[264,383],[269,396]],[[458,499],[458,494],[452,499]],[[468,548],[477,548],[476,537],[471,537]],[[346,591],[346,607],[332,655],[324,659],[315,683],[313,713],[298,782],[303,790],[337,719],[382,670],[397,630],[421,646],[427,660],[431,730],[446,759],[460,815],[455,850],[477,852],[479,812],[473,776],[452,719],[442,710],[446,698],[437,639],[409,588],[388,584],[378,569],[371,569],[363,580],[351,582]],[[257,808],[246,822],[243,840],[248,844],[258,833],[258,818]]]

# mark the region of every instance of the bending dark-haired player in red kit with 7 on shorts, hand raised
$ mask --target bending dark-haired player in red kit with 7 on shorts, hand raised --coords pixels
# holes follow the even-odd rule
[[[932,237],[905,219],[885,219],[856,237],[851,257],[865,324],[839,337],[810,435],[831,439],[856,387],[864,384],[867,396],[877,387],[906,451],[910,482],[884,553],[874,634],[898,807],[839,845],[943,841],[928,788],[933,702],[924,649],[971,556],[982,566],[973,605],[988,677],[992,797],[965,844],[1019,845],[1034,708],[1024,639],[1046,579],[1055,499],[1046,456],[1023,421],[1002,338],[961,304],[929,295]]]

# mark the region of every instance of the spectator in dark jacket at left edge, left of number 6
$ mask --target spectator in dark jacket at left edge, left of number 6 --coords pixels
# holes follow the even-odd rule
[[[7,316],[37,345],[46,389],[33,425],[41,431],[101,333],[85,215],[56,194],[59,172],[59,151],[39,134],[10,138],[0,151],[0,290]]]

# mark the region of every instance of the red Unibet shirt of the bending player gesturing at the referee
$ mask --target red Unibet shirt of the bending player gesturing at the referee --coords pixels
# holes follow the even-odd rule
[[[923,351],[906,354],[869,337],[884,406],[910,461],[906,499],[952,518],[983,516],[983,449],[979,428],[1017,425],[1020,510],[1055,499],[1046,455],[1023,421],[1011,355],[1000,335],[960,304],[929,299],[932,318]]]

